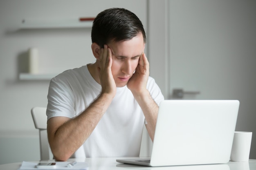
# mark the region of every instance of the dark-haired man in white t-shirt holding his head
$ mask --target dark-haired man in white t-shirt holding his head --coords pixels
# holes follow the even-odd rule
[[[93,64],[65,71],[49,85],[47,132],[56,160],[139,156],[144,123],[153,140],[164,99],[144,54],[137,16],[112,8],[92,26]]]

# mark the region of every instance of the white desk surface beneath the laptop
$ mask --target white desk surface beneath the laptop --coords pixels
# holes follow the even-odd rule
[[[120,158],[86,158],[69,159],[68,161],[86,162],[89,170],[256,170],[256,159],[249,162],[229,162],[216,165],[194,165],[194,166],[166,166],[166,167],[144,167],[133,166],[116,162]],[[53,161],[53,160],[49,160]],[[0,165],[0,170],[18,170],[21,162]]]

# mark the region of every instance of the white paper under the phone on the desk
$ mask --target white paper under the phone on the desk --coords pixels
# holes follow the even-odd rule
[[[47,162],[47,163],[51,163],[51,162]],[[71,163],[71,162],[56,162],[56,168],[52,168],[52,170],[88,170],[89,169],[88,164],[85,162],[77,162],[72,167],[66,167],[68,163]],[[38,162],[23,161],[18,170],[40,170],[40,168],[36,168],[37,164]]]

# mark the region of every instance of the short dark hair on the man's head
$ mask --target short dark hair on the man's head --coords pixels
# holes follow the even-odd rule
[[[110,8],[99,13],[92,24],[92,43],[103,48],[111,40],[130,40],[142,33],[146,43],[146,33],[139,18],[124,8]]]

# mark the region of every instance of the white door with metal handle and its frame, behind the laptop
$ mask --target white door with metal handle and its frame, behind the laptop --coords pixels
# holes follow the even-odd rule
[[[150,0],[150,75],[165,98],[238,99],[236,130],[256,132],[255,9],[250,0]]]

